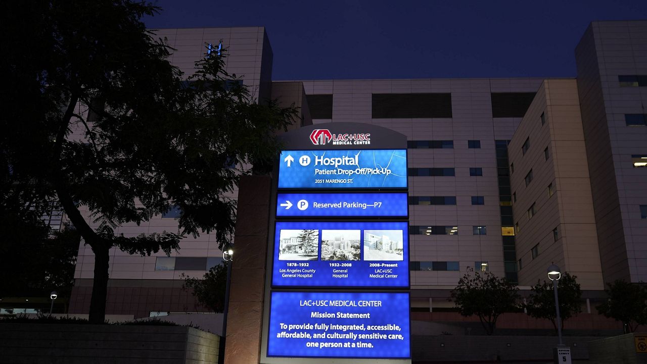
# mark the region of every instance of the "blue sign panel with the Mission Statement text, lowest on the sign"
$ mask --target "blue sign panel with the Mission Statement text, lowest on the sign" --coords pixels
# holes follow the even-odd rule
[[[410,358],[408,293],[272,292],[267,356]]]

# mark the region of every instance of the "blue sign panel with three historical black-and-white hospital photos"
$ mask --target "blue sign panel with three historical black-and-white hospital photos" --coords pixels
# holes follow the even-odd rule
[[[272,285],[408,287],[408,224],[276,222]]]

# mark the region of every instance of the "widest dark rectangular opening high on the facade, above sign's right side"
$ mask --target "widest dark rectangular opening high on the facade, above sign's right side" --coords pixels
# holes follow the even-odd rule
[[[452,94],[373,94],[373,119],[451,118]]]

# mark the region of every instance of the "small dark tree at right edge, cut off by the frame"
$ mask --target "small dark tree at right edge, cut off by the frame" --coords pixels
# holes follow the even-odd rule
[[[647,290],[643,286],[621,280],[607,285],[608,300],[596,306],[599,314],[622,322],[625,334],[647,324]]]

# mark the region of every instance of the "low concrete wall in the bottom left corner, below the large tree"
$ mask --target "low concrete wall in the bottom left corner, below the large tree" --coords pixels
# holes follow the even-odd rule
[[[0,324],[0,363],[217,363],[219,337],[192,327]]]

